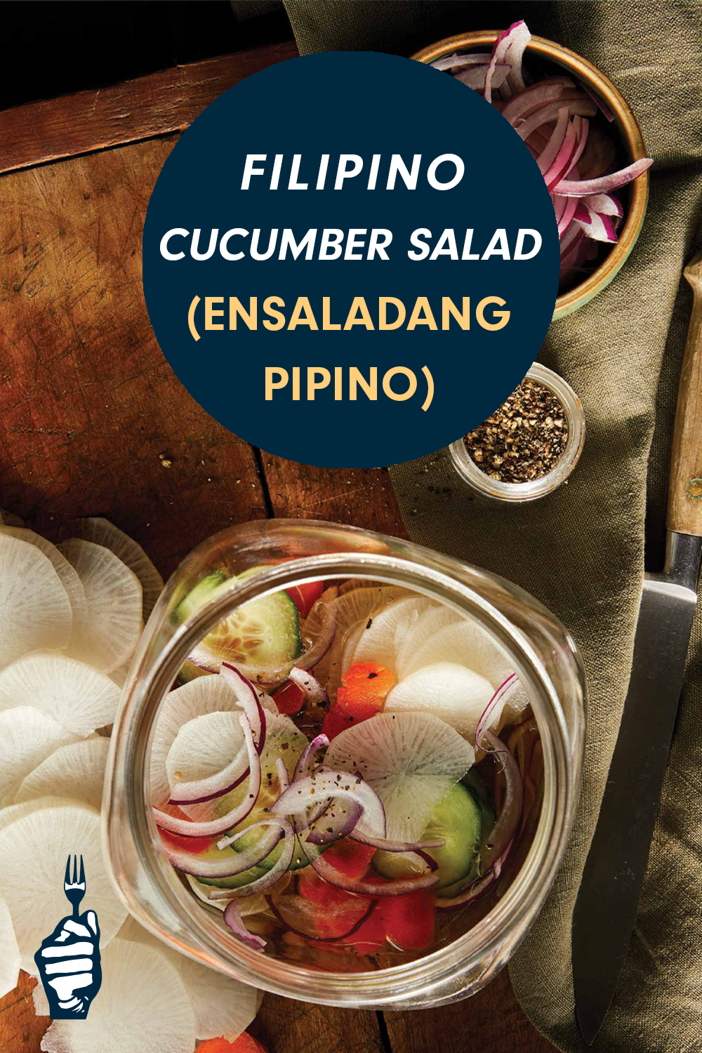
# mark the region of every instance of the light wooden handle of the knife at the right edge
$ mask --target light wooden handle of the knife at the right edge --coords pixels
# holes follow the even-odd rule
[[[702,253],[683,273],[693,286],[693,317],[678,389],[667,528],[702,537]]]

